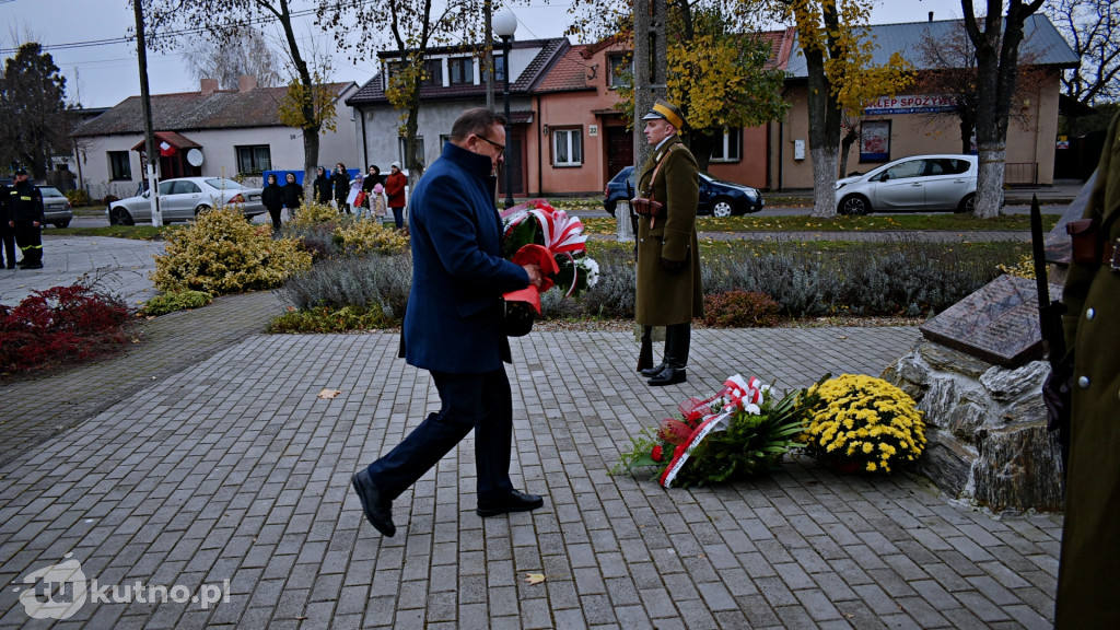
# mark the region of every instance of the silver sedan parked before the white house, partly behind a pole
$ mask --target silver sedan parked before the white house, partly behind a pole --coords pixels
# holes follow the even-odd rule
[[[150,193],[115,201],[105,209],[111,225],[133,225],[151,222]],[[179,177],[159,183],[160,211],[164,222],[190,221],[198,213],[218,206],[235,206],[246,219],[264,214],[260,188],[246,188],[222,177]]]

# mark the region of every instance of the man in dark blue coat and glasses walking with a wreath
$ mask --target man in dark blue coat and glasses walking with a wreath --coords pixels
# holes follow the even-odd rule
[[[510,481],[513,404],[502,362],[501,296],[541,285],[535,265],[502,258],[494,173],[505,152],[505,120],[467,110],[455,121],[442,156],[412,193],[412,293],[404,314],[404,358],[431,372],[440,410],[404,442],[354,474],[370,522],[396,532],[392,502],[475,430],[477,513],[534,510],[544,501]]]

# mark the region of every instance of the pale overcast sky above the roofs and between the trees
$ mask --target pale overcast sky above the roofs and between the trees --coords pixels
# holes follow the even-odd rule
[[[292,0],[293,7],[304,4]],[[310,6],[310,2],[306,2]],[[512,2],[517,16],[516,38],[559,37],[569,22],[566,0]],[[960,0],[878,0],[871,24],[924,21],[961,16]],[[131,0],[0,0],[0,35],[3,57],[22,41],[37,40],[47,47],[66,76],[66,93],[86,108],[108,108],[140,94],[136,45],[121,41],[136,25]],[[265,27],[273,39],[276,27]],[[302,25],[302,45],[329,45],[329,38],[310,21]],[[77,46],[75,46],[77,45]],[[334,53],[334,50],[330,50]],[[334,55],[336,81],[365,83],[376,72],[373,62],[352,64],[345,55]],[[148,84],[152,94],[197,91],[181,55],[148,55]]]

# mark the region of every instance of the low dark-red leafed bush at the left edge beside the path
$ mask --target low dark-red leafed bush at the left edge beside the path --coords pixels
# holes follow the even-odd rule
[[[128,341],[128,307],[84,285],[35,291],[0,305],[0,372],[29,372],[84,361]]]

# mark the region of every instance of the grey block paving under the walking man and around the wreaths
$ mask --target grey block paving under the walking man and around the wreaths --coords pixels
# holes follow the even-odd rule
[[[183,334],[206,311],[180,314]],[[391,333],[249,334],[0,467],[0,628],[1051,627],[1060,517],[997,519],[917,478],[804,458],[707,489],[608,474],[631,435],[730,373],[877,374],[917,336],[697,331],[689,381],[651,390],[631,335],[534,332],[508,369],[513,476],[545,507],[478,518],[468,437],[395,502],[385,539],[349,476],[435,408],[428,373]],[[25,578],[67,554],[158,601],[94,591],[30,619]]]

